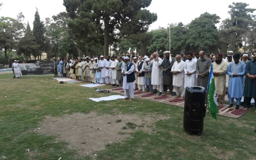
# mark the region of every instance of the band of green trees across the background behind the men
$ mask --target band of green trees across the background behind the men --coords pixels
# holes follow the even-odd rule
[[[25,60],[48,60],[57,57],[115,55],[128,52],[150,55],[166,50],[171,53],[204,50],[206,53],[228,50],[244,52],[256,50],[256,9],[236,2],[229,5],[229,18],[219,25],[219,16],[202,13],[189,24],[170,24],[148,31],[157,20],[146,9],[151,0],[64,0],[66,12],[40,20],[35,12],[33,30],[20,13],[16,18],[0,18],[1,61],[9,63],[12,51]],[[169,40],[170,38],[170,40]]]

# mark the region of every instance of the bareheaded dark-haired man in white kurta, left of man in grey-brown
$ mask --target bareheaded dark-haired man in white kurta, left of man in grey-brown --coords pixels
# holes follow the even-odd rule
[[[196,60],[192,58],[192,52],[187,53],[187,60],[184,66],[184,88],[194,86],[196,83]]]

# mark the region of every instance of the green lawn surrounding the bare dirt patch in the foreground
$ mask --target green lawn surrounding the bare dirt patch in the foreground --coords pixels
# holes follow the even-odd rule
[[[53,75],[18,79],[12,78],[12,74],[0,74],[0,160],[58,160],[60,157],[63,160],[256,159],[255,108],[238,119],[217,116],[215,121],[207,114],[202,135],[188,135],[183,129],[182,107],[137,98],[133,102],[93,102],[88,98],[102,95],[95,92],[95,88],[79,85],[57,84]],[[131,135],[120,142],[106,144],[104,150],[97,151],[97,156],[79,156],[65,140],[55,142],[58,135],[34,131],[41,127],[40,122],[46,116],[91,112],[168,118],[148,125],[152,130],[150,133],[134,129],[133,122],[130,122],[127,125],[133,129]]]

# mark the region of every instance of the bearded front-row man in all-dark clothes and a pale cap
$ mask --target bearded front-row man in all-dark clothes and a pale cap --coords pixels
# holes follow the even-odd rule
[[[172,65],[174,64],[174,58],[170,57],[170,51],[165,51],[165,59],[163,59],[163,63],[161,64],[161,69],[163,70],[163,95],[167,95],[167,89],[170,91],[170,97],[172,97]]]

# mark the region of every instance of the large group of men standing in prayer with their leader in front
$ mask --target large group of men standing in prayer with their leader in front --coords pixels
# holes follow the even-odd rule
[[[77,80],[116,87],[122,85],[124,100],[133,100],[133,91],[136,89],[141,92],[151,91],[152,94],[159,91],[158,95],[167,95],[169,90],[170,97],[175,89],[176,98],[184,99],[187,86],[197,85],[207,89],[212,66],[219,105],[222,105],[227,90],[229,107],[234,109],[233,101],[236,99],[235,108],[238,109],[244,95],[244,110],[247,110],[251,98],[256,98],[256,58],[251,61],[241,60],[239,53],[231,54],[232,51],[224,59],[222,53],[216,53],[213,60],[207,58],[204,51],[197,54],[188,52],[184,58],[179,54],[173,57],[170,51],[165,51],[164,56],[155,52],[150,57],[64,58],[59,65],[62,64],[65,69],[70,68],[67,70],[69,77]],[[253,56],[256,56],[256,52]]]

